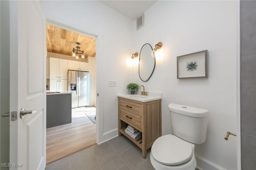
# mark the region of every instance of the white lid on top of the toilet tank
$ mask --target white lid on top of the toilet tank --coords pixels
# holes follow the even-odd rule
[[[171,103],[168,105],[169,111],[179,113],[182,115],[187,115],[191,117],[206,117],[209,115],[209,111],[206,109],[200,109],[196,107],[190,107],[190,106],[185,106],[185,105],[178,105]]]

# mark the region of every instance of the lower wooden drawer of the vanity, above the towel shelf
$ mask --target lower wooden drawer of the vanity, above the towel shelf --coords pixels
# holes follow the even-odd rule
[[[132,127],[140,128],[142,129],[141,125],[141,117],[138,115],[134,115],[128,111],[125,111],[124,109],[120,109],[120,118],[126,121],[128,124],[130,124]]]

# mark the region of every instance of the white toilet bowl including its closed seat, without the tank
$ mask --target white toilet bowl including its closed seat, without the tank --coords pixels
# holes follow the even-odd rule
[[[156,170],[194,170],[194,146],[171,134],[161,136],[151,147],[150,162]]]

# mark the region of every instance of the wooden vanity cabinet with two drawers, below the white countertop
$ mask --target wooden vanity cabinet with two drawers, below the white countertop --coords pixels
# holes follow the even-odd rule
[[[142,157],[147,157],[147,149],[162,136],[161,99],[140,102],[118,97],[118,136],[124,134],[142,149]],[[136,141],[124,132],[126,127],[132,127],[142,132],[142,139]]]

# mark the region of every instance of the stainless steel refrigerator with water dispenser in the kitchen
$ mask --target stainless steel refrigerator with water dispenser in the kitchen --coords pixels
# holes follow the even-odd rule
[[[72,108],[90,106],[90,73],[68,70],[68,90],[72,92]]]

